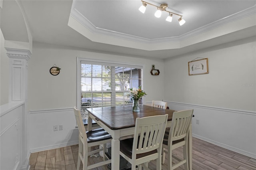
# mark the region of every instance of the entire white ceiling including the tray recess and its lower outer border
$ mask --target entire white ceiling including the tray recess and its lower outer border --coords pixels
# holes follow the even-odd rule
[[[172,22],[166,22],[167,12],[156,18],[156,8],[149,5],[142,14],[138,10],[142,5],[140,0],[21,0],[20,4],[33,42],[118,55],[167,59],[256,36],[256,0],[146,2],[157,6],[167,3],[168,10],[182,15],[186,23],[180,26],[178,16],[173,16]],[[4,0],[3,9],[9,3]],[[10,23],[7,24],[8,17],[3,17],[10,13],[15,18],[13,9],[6,7],[1,11],[1,30],[6,35],[5,39],[13,40],[20,36],[14,36],[15,30],[11,32]],[[240,22],[250,16],[254,16],[254,23]],[[238,24],[234,27],[232,23],[235,22]],[[24,41],[27,40],[24,38]]]

